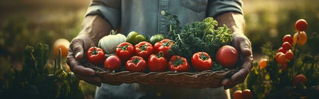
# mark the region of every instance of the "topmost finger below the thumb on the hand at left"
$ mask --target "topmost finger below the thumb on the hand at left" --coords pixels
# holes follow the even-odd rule
[[[95,75],[95,71],[90,68],[85,68],[80,65],[80,61],[78,61],[74,55],[68,54],[67,63],[70,66],[70,70],[74,73],[78,73],[82,76]]]

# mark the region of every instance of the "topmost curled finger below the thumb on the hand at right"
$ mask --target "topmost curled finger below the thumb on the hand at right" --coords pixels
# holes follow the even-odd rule
[[[237,81],[239,79],[244,79],[247,77],[248,73],[250,72],[252,68],[252,64],[251,61],[245,61],[242,66],[241,69],[239,69],[239,71],[237,73],[235,73],[232,77],[231,80],[232,81]]]

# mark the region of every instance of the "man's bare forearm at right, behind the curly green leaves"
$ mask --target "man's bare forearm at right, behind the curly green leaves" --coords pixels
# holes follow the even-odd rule
[[[218,26],[226,24],[233,33],[243,33],[245,27],[245,20],[243,15],[236,12],[228,12],[216,17]]]

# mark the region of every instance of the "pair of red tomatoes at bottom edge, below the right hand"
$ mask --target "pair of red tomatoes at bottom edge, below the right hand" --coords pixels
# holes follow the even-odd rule
[[[234,93],[234,99],[252,99],[252,93],[248,89],[243,91],[237,90]]]

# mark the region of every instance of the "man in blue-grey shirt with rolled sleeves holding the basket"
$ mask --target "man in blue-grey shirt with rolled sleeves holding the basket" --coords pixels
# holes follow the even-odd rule
[[[79,36],[71,42],[68,65],[75,75],[87,83],[99,86],[95,97],[109,99],[225,99],[229,90],[242,83],[252,68],[252,52],[249,40],[243,35],[244,19],[240,0],[92,0],[85,15]],[[101,84],[92,69],[80,64],[85,50],[114,29],[127,35],[137,31],[145,36],[158,33],[167,35],[166,12],[178,16],[181,25],[214,17],[219,26],[226,24],[233,32],[233,47],[239,51],[241,69],[222,81],[224,89],[187,89],[140,84],[112,86]]]

